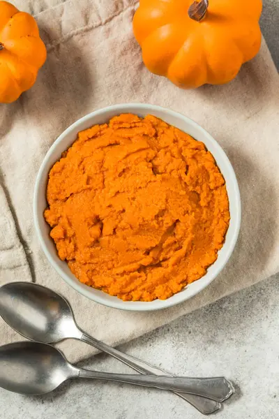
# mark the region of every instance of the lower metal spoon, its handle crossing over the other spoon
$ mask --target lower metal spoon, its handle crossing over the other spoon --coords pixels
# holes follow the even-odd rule
[[[74,367],[54,346],[38,342],[15,342],[0,347],[0,386],[25,395],[43,395],[70,378],[96,378],[178,390],[223,402],[231,392],[222,377],[188,378],[110,374]]]

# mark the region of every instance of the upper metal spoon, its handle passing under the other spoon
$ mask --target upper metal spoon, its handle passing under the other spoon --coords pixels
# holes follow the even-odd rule
[[[28,282],[13,282],[0,288],[0,315],[24,337],[52,344],[74,338],[108,353],[141,374],[167,375],[163,369],[112,348],[77,327],[68,302],[49,288]],[[220,403],[193,395],[180,395],[201,413],[220,409]]]

